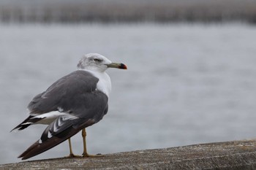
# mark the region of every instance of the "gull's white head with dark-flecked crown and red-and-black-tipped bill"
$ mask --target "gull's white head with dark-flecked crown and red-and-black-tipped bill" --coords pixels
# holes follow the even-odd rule
[[[97,53],[83,55],[78,62],[78,69],[105,72],[109,67],[117,69],[127,69],[123,63],[112,63],[108,58]]]

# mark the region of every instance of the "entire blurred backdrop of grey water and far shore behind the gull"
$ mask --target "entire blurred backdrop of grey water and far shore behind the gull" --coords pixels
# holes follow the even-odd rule
[[[256,0],[0,0],[0,163],[45,125],[12,132],[27,104],[100,53],[113,91],[87,128],[91,154],[255,138]],[[80,133],[72,138],[83,151]],[[31,160],[69,154],[59,144]]]

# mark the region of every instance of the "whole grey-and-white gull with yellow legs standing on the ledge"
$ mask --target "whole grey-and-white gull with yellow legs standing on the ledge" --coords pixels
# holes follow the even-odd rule
[[[97,53],[83,55],[78,70],[67,74],[50,85],[29,103],[29,117],[12,131],[21,131],[29,125],[48,125],[42,136],[18,158],[26,160],[56,145],[69,141],[69,157],[72,152],[70,138],[82,131],[83,157],[86,150],[86,128],[102,120],[108,112],[108,96],[111,81],[105,72],[108,68],[127,69],[123,63],[112,63]]]

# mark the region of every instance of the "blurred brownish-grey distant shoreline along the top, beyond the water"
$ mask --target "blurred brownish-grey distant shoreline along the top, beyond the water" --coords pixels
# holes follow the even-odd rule
[[[122,2],[122,3],[121,3]],[[132,1],[56,1],[1,4],[1,23],[256,23],[256,1],[194,1],[138,3]]]

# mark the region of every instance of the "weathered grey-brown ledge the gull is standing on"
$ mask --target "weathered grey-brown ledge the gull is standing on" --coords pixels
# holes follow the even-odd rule
[[[0,169],[256,169],[256,140],[119,152],[94,158],[55,158]]]

